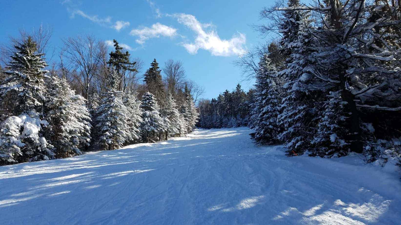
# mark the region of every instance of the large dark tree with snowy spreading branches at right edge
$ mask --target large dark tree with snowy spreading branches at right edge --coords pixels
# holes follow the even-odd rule
[[[308,82],[325,94],[338,93],[337,100],[346,102],[344,107],[328,107],[326,104],[324,114],[330,111],[330,115],[348,118],[332,122],[339,123],[335,125],[338,130],[349,131],[341,136],[336,134],[336,138],[345,140],[349,145],[326,140],[319,142],[321,145],[315,149],[333,148],[336,145],[334,149],[338,150],[338,154],[330,151],[329,155],[342,155],[347,151],[362,153],[364,137],[361,121],[375,122],[376,127],[383,127],[383,123],[386,123],[382,133],[399,124],[396,120],[377,122],[372,118],[401,110],[398,54],[398,27],[401,21],[394,16],[400,13],[400,9],[395,1],[330,0],[325,4],[277,10],[311,10],[316,13],[316,18],[320,18],[316,20],[316,26],[319,27],[309,30],[318,43],[316,52],[311,55],[316,63],[310,69],[312,77]],[[332,98],[328,97],[329,103]],[[327,129],[324,133],[330,133],[330,127],[324,126],[327,123],[324,118],[320,121],[319,133],[322,129]],[[397,133],[399,136],[399,131],[393,131],[392,135]]]

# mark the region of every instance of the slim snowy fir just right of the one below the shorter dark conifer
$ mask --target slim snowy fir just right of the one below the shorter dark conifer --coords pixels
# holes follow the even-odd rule
[[[167,137],[172,137],[179,135],[180,133],[180,112],[177,109],[177,104],[174,97],[169,92],[162,109],[160,110],[160,114],[163,118],[167,118],[169,121],[168,127],[166,129],[166,139]]]

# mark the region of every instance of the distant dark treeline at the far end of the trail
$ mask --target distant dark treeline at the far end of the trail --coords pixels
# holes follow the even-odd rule
[[[225,90],[217,98],[201,99],[198,102],[199,122],[198,127],[231,128],[247,127],[250,121],[249,106],[254,101],[254,90],[244,92],[240,84],[230,92]]]

